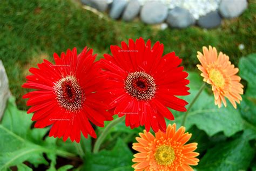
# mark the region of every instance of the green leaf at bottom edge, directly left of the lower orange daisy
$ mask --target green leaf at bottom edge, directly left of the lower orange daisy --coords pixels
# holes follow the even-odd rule
[[[132,152],[123,140],[118,139],[111,151],[102,150],[97,154],[86,154],[83,169],[87,171],[126,171],[133,170],[132,164]]]

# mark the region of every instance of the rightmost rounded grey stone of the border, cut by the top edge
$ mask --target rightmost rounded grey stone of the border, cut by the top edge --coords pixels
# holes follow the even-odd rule
[[[241,15],[247,8],[246,0],[222,0],[219,6],[221,16],[225,18],[234,18]]]

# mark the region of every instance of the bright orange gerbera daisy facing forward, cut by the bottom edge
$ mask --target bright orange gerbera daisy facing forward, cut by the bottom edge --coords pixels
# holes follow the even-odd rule
[[[150,132],[139,133],[138,142],[133,143],[132,148],[139,153],[134,154],[132,167],[140,170],[193,170],[189,165],[198,165],[199,153],[197,143],[185,143],[191,138],[191,134],[185,133],[185,127],[181,126],[176,131],[176,124],[169,125],[166,132],[157,132],[154,137]]]

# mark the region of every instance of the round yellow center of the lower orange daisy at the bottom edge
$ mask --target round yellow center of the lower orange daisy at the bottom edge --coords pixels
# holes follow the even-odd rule
[[[175,159],[175,153],[172,147],[163,145],[157,148],[154,158],[156,159],[158,165],[167,166],[170,165]]]

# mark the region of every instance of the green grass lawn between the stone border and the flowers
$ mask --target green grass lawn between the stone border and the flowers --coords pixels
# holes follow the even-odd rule
[[[52,53],[84,46],[93,48],[102,58],[110,52],[111,44],[120,45],[129,38],[159,40],[165,45],[165,53],[175,51],[184,59],[187,70],[196,70],[197,51],[212,45],[230,56],[238,64],[242,56],[255,52],[256,3],[239,18],[224,20],[218,29],[204,30],[197,26],[187,29],[156,29],[141,22],[125,23],[99,18],[95,13],[70,1],[38,0],[2,1],[0,5],[0,59],[9,77],[10,89],[17,98],[19,108],[26,109],[21,88],[29,67],[48,58]],[[105,16],[104,18],[106,18]],[[239,50],[238,45],[245,49]]]

